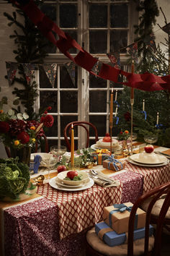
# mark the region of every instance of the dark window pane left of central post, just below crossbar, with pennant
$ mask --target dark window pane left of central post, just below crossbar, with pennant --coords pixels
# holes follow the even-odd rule
[[[77,88],[77,66],[73,63],[61,66],[60,88]]]

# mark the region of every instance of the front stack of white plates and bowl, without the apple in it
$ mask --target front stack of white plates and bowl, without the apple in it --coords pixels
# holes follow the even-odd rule
[[[71,181],[65,180],[68,171],[62,171],[58,176],[50,179],[50,186],[55,189],[65,190],[65,191],[79,191],[84,189],[89,189],[94,185],[94,180],[89,178],[89,174],[84,171],[78,171],[79,174],[83,175],[81,181]]]

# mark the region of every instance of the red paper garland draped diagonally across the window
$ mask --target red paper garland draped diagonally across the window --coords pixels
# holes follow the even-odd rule
[[[95,74],[91,71],[94,67],[94,64],[97,62],[97,59],[91,56],[86,52],[76,40],[73,40],[67,33],[64,33],[50,18],[46,17],[33,0],[30,0],[29,3],[24,6],[19,5],[17,1],[10,0],[17,8],[22,9],[25,14],[32,20],[32,22],[39,28],[41,33],[50,40],[59,50],[71,59],[74,63],[78,64],[80,67],[83,67],[91,74],[94,74],[97,77],[102,77],[105,80],[110,80],[112,82],[117,82],[120,74],[127,77],[128,82],[120,82],[129,87],[137,88],[139,90],[145,91],[154,91],[154,90],[170,90],[170,75],[165,77],[158,77],[155,74],[145,73],[145,74],[132,74],[124,72],[121,69],[116,69],[108,64],[102,63],[102,68],[99,74]],[[59,36],[59,40],[55,39],[52,31]],[[70,48],[77,48],[79,54],[75,58],[71,56],[68,52]]]

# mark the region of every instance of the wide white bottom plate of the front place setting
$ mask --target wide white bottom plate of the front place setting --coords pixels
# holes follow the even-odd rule
[[[63,187],[63,186],[60,186],[58,184],[56,184],[56,181],[55,181],[56,177],[53,177],[53,179],[50,179],[50,186],[53,187],[54,189],[59,189],[59,190],[63,190],[63,191],[71,191],[71,192],[74,192],[74,191],[80,191],[80,190],[84,190],[84,189],[89,189],[89,187],[92,187],[94,185],[94,180],[89,178],[89,182],[84,184],[83,186],[81,187]]]

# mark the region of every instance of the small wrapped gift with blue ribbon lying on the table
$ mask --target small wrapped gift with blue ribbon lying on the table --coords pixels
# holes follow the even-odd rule
[[[117,159],[111,158],[111,157],[109,157],[109,158],[110,159],[103,161],[104,168],[107,168],[107,169],[113,170],[113,171],[120,171],[125,168],[125,165],[126,165],[125,161],[120,161],[120,160],[117,160]]]

